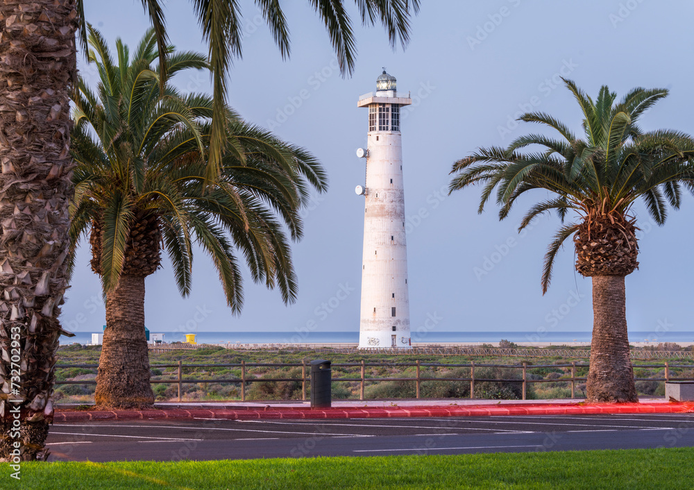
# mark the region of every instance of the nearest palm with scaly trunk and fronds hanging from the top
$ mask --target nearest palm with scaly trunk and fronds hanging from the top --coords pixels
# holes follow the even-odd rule
[[[283,56],[289,56],[285,15],[276,0],[257,0]],[[391,45],[407,44],[409,21],[418,0],[355,0],[362,24],[378,20]],[[166,65],[164,2],[142,0],[157,33]],[[205,167],[208,183],[220,169],[226,149],[226,80],[230,63],[241,56],[242,25],[239,3],[192,0],[198,24],[210,47],[208,62],[214,85],[214,128]],[[351,74],[356,53],[352,21],[344,2],[312,0],[310,5],[325,24],[343,74]],[[76,82],[76,42],[80,33],[86,48],[83,0],[3,0],[0,2],[0,376],[4,393],[12,390],[11,342],[19,330],[21,381],[17,403],[0,398],[0,462],[9,461],[12,442],[21,446],[21,459],[42,458],[50,401],[55,380],[58,337],[67,334],[58,316],[67,289],[68,207],[73,192],[69,99]],[[86,51],[86,49],[85,49]],[[165,71],[165,70],[164,70]],[[9,360],[8,360],[9,359]],[[12,431],[10,409],[21,408],[22,430]],[[13,437],[18,434],[18,437]]]

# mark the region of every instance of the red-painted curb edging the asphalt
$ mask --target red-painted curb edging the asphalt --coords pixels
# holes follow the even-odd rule
[[[54,422],[152,420],[152,419],[387,419],[407,417],[500,416],[500,415],[588,415],[588,414],[689,414],[694,403],[619,403],[581,405],[577,403],[524,405],[467,405],[464,407],[235,407],[235,409],[151,409],[80,411],[56,410]]]

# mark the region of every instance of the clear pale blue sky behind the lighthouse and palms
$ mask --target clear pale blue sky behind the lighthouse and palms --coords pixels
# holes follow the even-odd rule
[[[134,46],[147,28],[139,1],[85,3],[87,20],[111,44],[121,37]],[[575,272],[573,246],[559,253],[550,291],[541,294],[543,255],[557,217],[538,219],[527,234],[516,231],[523,211],[545,194],[519,202],[500,222],[493,204],[477,214],[479,189],[448,196],[448,172],[478,146],[505,145],[539,130],[514,121],[526,110],[549,112],[579,133],[579,108],[559,76],[592,96],[603,84],[619,96],[636,86],[667,87],[670,96],[643,117],[643,128],[694,133],[693,3],[423,0],[405,51],[391,50],[382,28],[356,29],[351,78],[339,76],[328,35],[308,2],[283,2],[291,31],[287,61],[253,2],[240,3],[244,57],[232,68],[229,101],[249,121],[312,151],[328,171],[330,189],[305,211],[305,238],[293,247],[294,305],[285,306],[278,292],[246,275],[244,310],[232,316],[209,260],[198,253],[189,298],[180,298],[167,262],[147,279],[150,330],[185,323],[201,331],[358,330],[363,197],[353,189],[364,179],[355,149],[366,144],[367,115],[356,103],[359,94],[375,90],[381,67],[414,102],[402,124],[412,328],[434,316],[437,331],[591,330],[591,283]],[[351,4],[350,11],[356,18]],[[178,49],[204,50],[187,2],[168,3],[167,20]],[[83,61],[81,68],[96,83]],[[198,74],[177,83],[209,90],[207,76]],[[694,200],[687,196],[662,228],[642,205],[633,212],[642,228],[641,269],[627,278],[629,330],[691,330]],[[104,312],[88,255],[84,246],[61,319],[71,330],[96,332]]]

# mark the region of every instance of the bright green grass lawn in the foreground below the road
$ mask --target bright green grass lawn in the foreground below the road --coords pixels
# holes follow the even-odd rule
[[[686,489],[694,448],[210,462],[1,464],[2,489]]]

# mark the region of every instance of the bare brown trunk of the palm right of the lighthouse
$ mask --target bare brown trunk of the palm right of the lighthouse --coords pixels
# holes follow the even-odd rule
[[[638,401],[629,358],[624,276],[593,276],[589,403]]]

